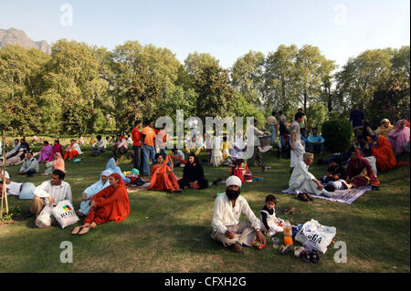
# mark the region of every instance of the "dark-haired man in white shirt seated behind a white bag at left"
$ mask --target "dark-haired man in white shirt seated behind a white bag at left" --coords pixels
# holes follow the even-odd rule
[[[72,202],[71,187],[68,182],[64,182],[64,171],[54,170],[51,180],[42,182],[34,191],[33,203],[30,213],[38,216],[44,206],[58,204],[63,200]]]

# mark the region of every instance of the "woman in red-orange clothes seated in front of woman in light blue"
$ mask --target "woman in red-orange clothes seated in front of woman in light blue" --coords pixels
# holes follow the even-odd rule
[[[101,223],[121,223],[130,213],[129,194],[118,173],[109,176],[110,186],[93,196],[90,213],[84,224],[74,228],[71,234],[87,234]]]

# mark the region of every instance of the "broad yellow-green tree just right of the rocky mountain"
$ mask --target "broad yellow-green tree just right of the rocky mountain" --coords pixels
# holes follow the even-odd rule
[[[58,40],[52,47],[44,77],[46,90],[41,100],[45,121],[61,120],[59,130],[64,133],[93,130],[93,120],[98,116],[96,99],[107,95],[108,88],[99,69],[99,61],[88,45]]]

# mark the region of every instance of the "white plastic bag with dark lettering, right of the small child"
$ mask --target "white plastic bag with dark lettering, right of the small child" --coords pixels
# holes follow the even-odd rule
[[[324,226],[311,219],[311,221],[302,225],[300,231],[295,236],[295,240],[325,254],[336,233],[335,227]]]

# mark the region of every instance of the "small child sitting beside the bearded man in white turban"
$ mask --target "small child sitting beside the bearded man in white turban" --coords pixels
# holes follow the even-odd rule
[[[261,220],[261,231],[264,231],[270,236],[276,233],[282,233],[282,223],[284,221],[279,219],[276,214],[275,207],[277,205],[277,199],[274,195],[268,195],[266,197],[266,205],[259,212]]]

